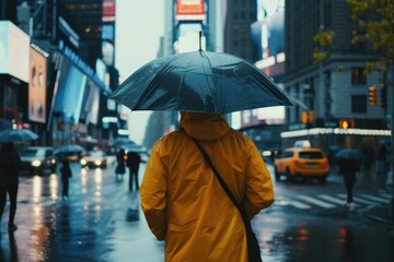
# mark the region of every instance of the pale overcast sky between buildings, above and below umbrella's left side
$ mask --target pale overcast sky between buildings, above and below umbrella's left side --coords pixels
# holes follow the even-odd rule
[[[164,32],[164,0],[116,0],[115,63],[123,79],[157,58]],[[150,112],[130,114],[130,138],[142,143]]]

